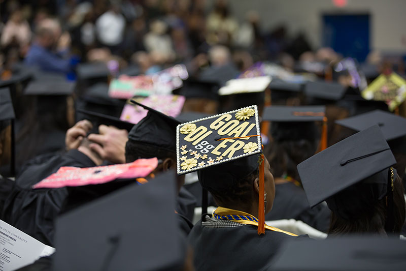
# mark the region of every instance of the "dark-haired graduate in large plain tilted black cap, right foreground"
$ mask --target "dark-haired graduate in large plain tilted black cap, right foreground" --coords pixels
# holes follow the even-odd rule
[[[326,200],[329,235],[399,235],[405,219],[396,160],[379,126],[352,135],[297,166],[310,206]]]

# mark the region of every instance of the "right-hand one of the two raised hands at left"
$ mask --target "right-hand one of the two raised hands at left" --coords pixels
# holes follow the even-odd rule
[[[125,163],[125,143],[128,141],[128,132],[114,126],[100,125],[99,134],[90,134],[88,139],[94,143],[90,149],[104,160],[116,164]]]

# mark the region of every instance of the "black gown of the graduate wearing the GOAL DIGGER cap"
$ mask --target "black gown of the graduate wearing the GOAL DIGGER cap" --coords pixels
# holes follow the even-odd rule
[[[299,236],[301,237],[301,236]],[[188,236],[194,250],[194,267],[201,270],[262,270],[287,240],[297,238],[283,232],[265,230],[258,236],[257,227],[202,227],[197,222]]]

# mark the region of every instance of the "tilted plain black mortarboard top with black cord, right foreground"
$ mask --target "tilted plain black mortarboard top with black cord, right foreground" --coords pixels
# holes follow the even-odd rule
[[[381,129],[375,125],[301,162],[297,170],[313,207],[395,163]]]

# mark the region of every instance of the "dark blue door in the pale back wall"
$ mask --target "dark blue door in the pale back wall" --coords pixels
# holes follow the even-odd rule
[[[368,14],[323,15],[323,46],[363,62],[369,53],[369,18]]]

